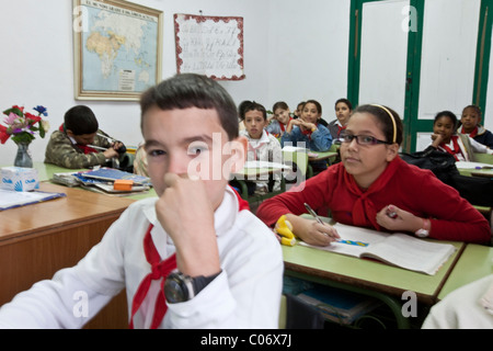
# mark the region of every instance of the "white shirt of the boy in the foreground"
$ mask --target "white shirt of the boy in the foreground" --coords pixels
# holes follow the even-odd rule
[[[36,283],[3,305],[0,328],[81,328],[123,288],[130,316],[134,294],[150,272],[142,245],[149,223],[154,225],[151,236],[161,259],[175,251],[157,220],[156,201],[131,204],[76,267]],[[215,213],[222,272],[191,301],[170,304],[161,328],[277,328],[280,247],[259,218],[238,208],[238,197],[228,188]],[[134,318],[135,328],[149,327],[159,283],[152,282]],[[85,309],[81,296],[89,298]],[[83,312],[88,316],[81,317]]]

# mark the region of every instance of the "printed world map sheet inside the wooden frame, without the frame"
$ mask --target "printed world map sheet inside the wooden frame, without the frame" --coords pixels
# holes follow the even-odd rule
[[[156,84],[158,22],[135,12],[124,13],[115,7],[87,7],[83,90],[141,92]]]

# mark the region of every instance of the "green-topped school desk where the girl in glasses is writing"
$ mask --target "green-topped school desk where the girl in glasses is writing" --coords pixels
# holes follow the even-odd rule
[[[283,246],[285,274],[376,297],[389,306],[399,328],[409,328],[409,319],[403,317],[401,310],[408,299],[402,299],[402,294],[411,291],[416,293],[419,302],[435,304],[442,286],[466,247],[457,241],[443,242],[454,245],[457,250],[435,275],[300,245]]]

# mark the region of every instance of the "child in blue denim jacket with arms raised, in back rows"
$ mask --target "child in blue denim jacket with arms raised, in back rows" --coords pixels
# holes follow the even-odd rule
[[[305,146],[314,152],[329,151],[332,136],[329,129],[319,123],[321,115],[322,105],[316,100],[307,101],[301,117],[289,122],[286,133],[280,138],[280,145],[284,147],[286,143],[291,143],[293,146]],[[314,173],[326,169],[325,161],[310,163]]]

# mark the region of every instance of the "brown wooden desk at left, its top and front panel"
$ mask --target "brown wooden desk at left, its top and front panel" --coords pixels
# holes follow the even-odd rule
[[[0,305],[34,283],[77,264],[134,200],[41,183],[41,190],[66,197],[0,212]],[[125,292],[88,328],[128,326]]]

